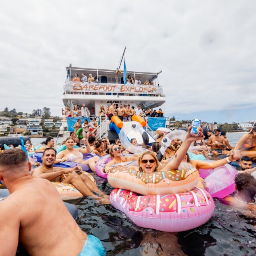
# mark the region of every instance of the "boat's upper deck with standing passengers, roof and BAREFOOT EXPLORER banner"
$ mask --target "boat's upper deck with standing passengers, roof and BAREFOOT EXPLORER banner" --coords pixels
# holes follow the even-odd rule
[[[66,69],[64,94],[165,96],[158,80],[161,71],[156,73],[127,71],[127,83],[124,84],[123,71],[83,69],[71,65]]]

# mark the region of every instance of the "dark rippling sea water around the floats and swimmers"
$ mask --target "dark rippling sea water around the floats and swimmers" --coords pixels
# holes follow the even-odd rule
[[[235,146],[243,134],[227,134]],[[44,139],[32,139],[36,146]],[[59,139],[59,142],[61,139]],[[107,180],[95,176],[98,187],[110,194]],[[78,225],[98,237],[107,255],[256,255],[256,217],[214,199],[215,210],[204,225],[178,233],[159,232],[133,224],[111,205],[82,197],[70,200],[79,210]]]

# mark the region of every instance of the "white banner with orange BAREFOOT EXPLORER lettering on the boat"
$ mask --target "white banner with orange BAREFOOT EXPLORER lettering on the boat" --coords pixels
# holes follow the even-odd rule
[[[88,93],[145,93],[162,94],[161,86],[138,85],[138,84],[118,84],[118,83],[87,83],[87,82],[67,82],[64,91],[77,91]]]

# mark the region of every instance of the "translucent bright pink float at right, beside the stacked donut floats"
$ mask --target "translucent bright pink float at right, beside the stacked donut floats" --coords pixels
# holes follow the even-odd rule
[[[225,164],[204,171],[211,172],[211,174],[204,179],[202,184],[212,197],[224,198],[236,190],[235,176],[238,172],[232,165]]]

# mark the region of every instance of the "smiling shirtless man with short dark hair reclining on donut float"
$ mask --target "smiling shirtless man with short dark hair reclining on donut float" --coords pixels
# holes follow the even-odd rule
[[[49,181],[63,182],[72,184],[78,189],[84,196],[90,196],[96,199],[102,199],[93,194],[93,192],[100,194],[105,199],[108,195],[102,193],[98,187],[91,181],[86,174],[80,174],[81,167],[74,168],[61,168],[53,167],[56,160],[56,151],[53,148],[46,148],[42,156],[42,166],[35,168],[31,175],[33,178],[43,178]],[[78,172],[78,173],[77,173]],[[62,174],[68,174],[64,180],[61,180]]]

